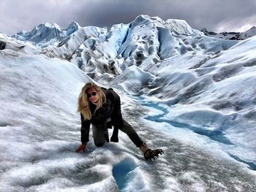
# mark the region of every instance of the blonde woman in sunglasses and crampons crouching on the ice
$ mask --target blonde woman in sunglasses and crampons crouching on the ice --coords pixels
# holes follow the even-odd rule
[[[122,118],[121,102],[118,94],[113,89],[100,88],[93,82],[83,86],[78,97],[78,112],[81,116],[81,142],[75,152],[85,152],[89,142],[89,130],[92,125],[94,144],[101,147],[109,142],[108,128],[114,126],[111,142],[118,142],[118,129],[128,135],[129,139],[144,153],[146,160],[162,155],[161,149],[151,150],[143,142],[135,129]]]

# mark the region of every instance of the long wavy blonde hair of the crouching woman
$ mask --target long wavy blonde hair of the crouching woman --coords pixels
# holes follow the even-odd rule
[[[102,104],[104,104],[106,101],[106,96],[102,89],[94,82],[87,82],[86,85],[83,86],[82,91],[78,96],[78,112],[81,112],[83,117],[87,120],[91,119],[90,101],[86,93],[89,88],[94,88],[99,96],[96,110],[102,107]]]

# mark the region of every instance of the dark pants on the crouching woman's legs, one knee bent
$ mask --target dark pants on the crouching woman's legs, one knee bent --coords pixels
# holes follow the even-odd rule
[[[135,129],[132,128],[132,126],[127,123],[126,120],[123,119],[123,121],[124,125],[118,127],[118,129],[127,134],[129,139],[132,140],[136,147],[140,147],[143,144],[143,141],[140,139]],[[106,142],[106,138],[108,138],[108,127],[106,123],[102,126],[92,125],[92,134],[94,137],[94,144],[98,147],[103,146]]]

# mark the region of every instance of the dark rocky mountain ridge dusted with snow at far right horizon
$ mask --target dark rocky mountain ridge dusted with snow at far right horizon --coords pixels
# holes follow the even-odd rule
[[[213,31],[207,31],[206,28],[203,28],[201,31],[203,32],[203,34],[205,34],[208,37],[215,37],[215,38],[227,39],[227,40],[244,40],[256,35],[255,26],[253,26],[252,28],[244,32],[221,32],[217,34]]]

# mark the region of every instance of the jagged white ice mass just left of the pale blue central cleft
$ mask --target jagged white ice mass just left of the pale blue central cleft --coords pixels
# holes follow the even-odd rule
[[[110,77],[111,74],[120,73],[117,55],[121,44],[127,37],[128,26],[124,24],[114,25],[110,31],[107,31],[107,28],[85,27],[83,31],[87,34],[82,34],[79,41],[74,42],[81,30],[61,42],[59,47],[47,47],[45,53],[53,53],[53,55],[61,58],[68,58],[95,79],[102,74],[110,74],[108,75]],[[75,46],[69,51],[72,43]]]

